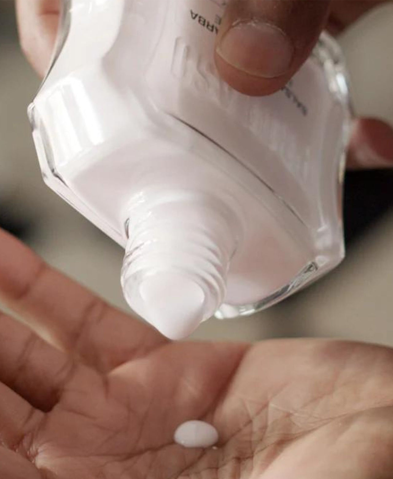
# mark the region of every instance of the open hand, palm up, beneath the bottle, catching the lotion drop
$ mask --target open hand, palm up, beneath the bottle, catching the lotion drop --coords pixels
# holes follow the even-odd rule
[[[393,350],[171,343],[0,233],[4,479],[393,476]],[[173,443],[204,419],[217,448]]]

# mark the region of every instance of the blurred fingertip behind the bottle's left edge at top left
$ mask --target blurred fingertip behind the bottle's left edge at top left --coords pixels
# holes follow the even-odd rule
[[[60,0],[16,0],[23,53],[43,77],[55,46]]]

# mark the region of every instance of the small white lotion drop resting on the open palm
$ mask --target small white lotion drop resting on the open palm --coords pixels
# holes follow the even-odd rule
[[[187,421],[176,429],[174,440],[184,447],[211,447],[218,441],[218,432],[207,422]]]

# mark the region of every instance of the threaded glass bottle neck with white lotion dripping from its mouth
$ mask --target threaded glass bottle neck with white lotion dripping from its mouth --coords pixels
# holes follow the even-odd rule
[[[222,201],[186,191],[132,208],[122,270],[124,296],[171,339],[190,334],[225,297],[238,222]]]

